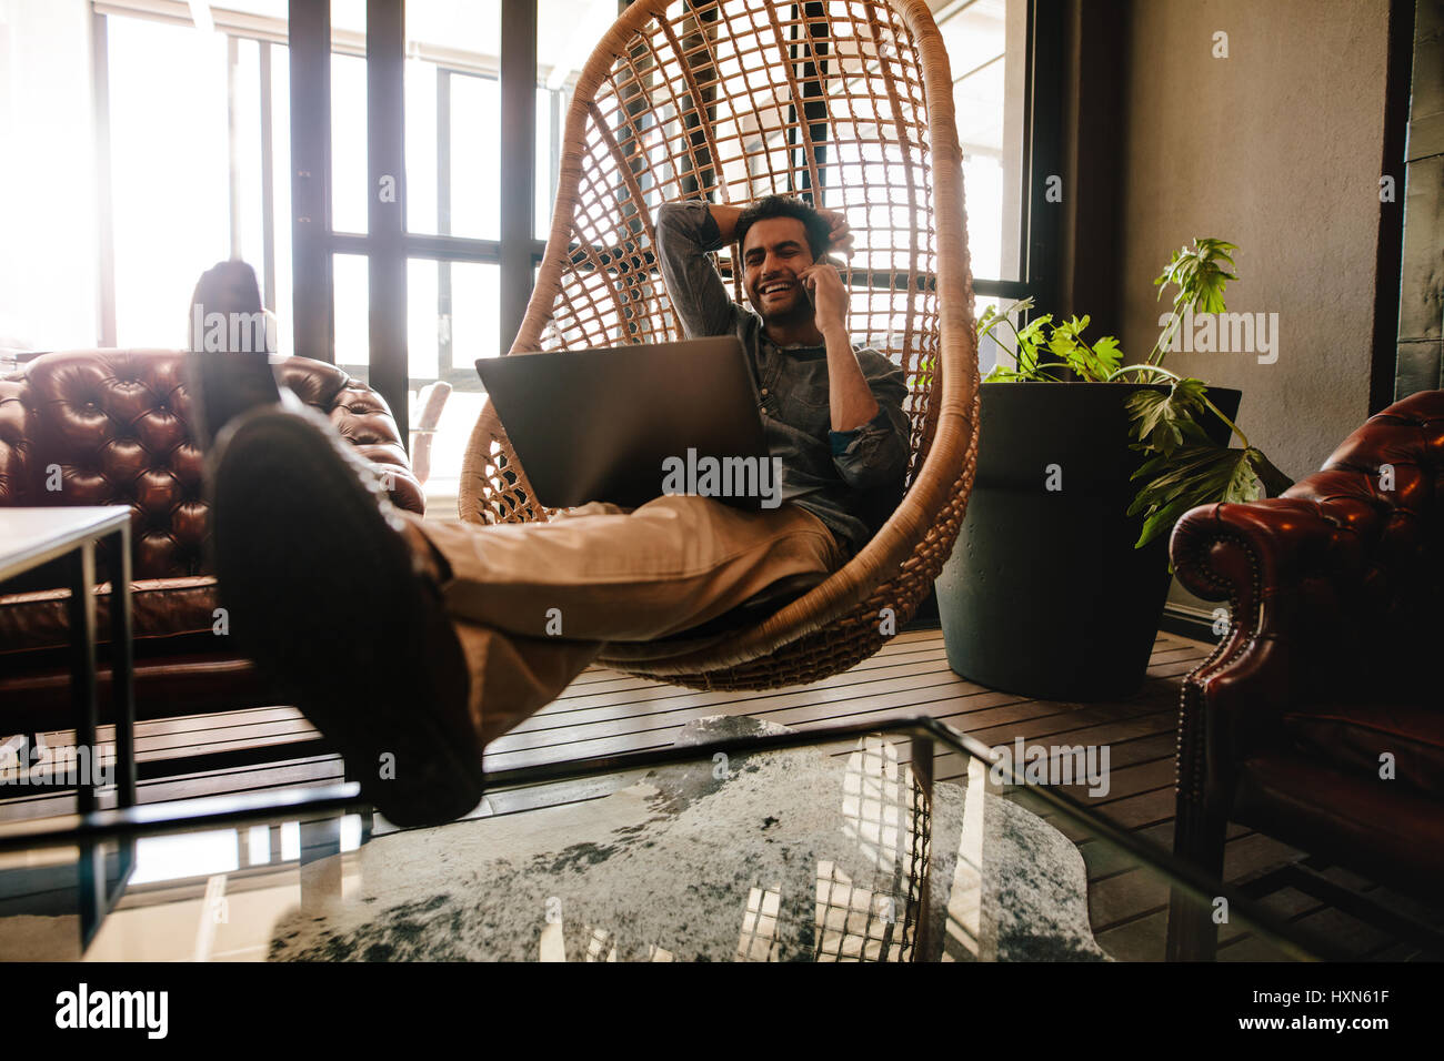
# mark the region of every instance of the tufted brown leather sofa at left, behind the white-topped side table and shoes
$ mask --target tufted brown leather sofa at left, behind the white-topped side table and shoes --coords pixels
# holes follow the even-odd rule
[[[206,566],[202,456],[185,354],[45,354],[0,380],[0,505],[131,507],[136,713],[166,717],[276,703],[217,622]],[[277,364],[277,378],[386,475],[391,499],[422,512],[386,401],[335,365]],[[48,489],[59,484],[61,489]],[[305,534],[303,527],[296,528]],[[101,717],[107,717],[110,585],[97,556]],[[68,590],[49,569],[0,586],[0,735],[69,728]]]

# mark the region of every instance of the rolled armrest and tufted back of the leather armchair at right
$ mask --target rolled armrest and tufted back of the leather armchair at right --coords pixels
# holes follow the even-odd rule
[[[1437,651],[1441,501],[1444,391],[1425,391],[1372,417],[1282,497],[1178,521],[1180,582],[1232,606],[1227,637],[1184,687],[1181,743],[1207,743],[1210,775],[1320,694],[1422,676]],[[1207,715],[1193,733],[1191,709]]]

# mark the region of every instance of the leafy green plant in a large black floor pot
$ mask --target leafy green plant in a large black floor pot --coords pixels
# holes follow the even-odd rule
[[[1222,313],[1233,244],[1194,240],[1154,281],[1175,289],[1158,342],[1125,364],[1089,318],[1017,328],[1031,299],[978,320],[1017,357],[982,385],[978,475],[937,579],[949,665],[1045,699],[1142,684],[1168,593],[1167,536],[1194,505],[1252,501],[1289,481],[1238,429],[1240,393],[1164,367],[1184,319]],[[1239,446],[1230,446],[1239,436]]]

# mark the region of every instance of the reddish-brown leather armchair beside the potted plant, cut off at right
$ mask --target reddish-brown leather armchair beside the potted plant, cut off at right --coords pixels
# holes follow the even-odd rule
[[[1214,879],[1238,821],[1401,892],[1444,894],[1444,391],[1395,403],[1281,497],[1194,508],[1180,582],[1232,622],[1183,683],[1175,855]],[[1212,953],[1174,904],[1170,954]]]

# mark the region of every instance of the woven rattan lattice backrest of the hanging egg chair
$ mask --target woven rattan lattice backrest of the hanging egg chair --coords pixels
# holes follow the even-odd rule
[[[933,435],[940,341],[923,84],[920,42],[887,0],[637,0],[578,81],[513,352],[682,338],[656,268],[657,206],[800,195],[845,212],[856,235],[849,329],[907,374],[911,479]]]

